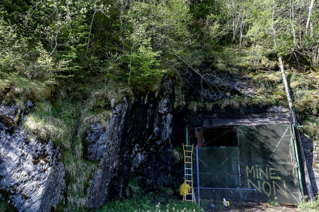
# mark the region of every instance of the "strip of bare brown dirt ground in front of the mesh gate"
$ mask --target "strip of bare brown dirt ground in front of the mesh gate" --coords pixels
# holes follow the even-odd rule
[[[215,208],[211,208],[211,204],[214,204]],[[209,201],[206,200],[201,204],[201,207],[205,212],[215,212],[215,211],[229,211],[229,212],[239,212],[239,211],[257,211],[257,212],[294,212],[301,211],[299,208],[294,206],[271,206],[268,203],[263,202],[230,202],[228,207],[222,205],[222,202]]]

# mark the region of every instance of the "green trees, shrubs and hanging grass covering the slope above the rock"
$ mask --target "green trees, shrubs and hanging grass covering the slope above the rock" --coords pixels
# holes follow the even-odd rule
[[[175,107],[187,104],[183,69],[246,77],[254,96],[221,107],[288,106],[280,63],[304,131],[319,142],[319,6],[314,0],[2,0],[0,101],[19,110],[39,140],[63,148],[68,207],[85,204],[97,163],[86,158],[85,132],[108,126],[124,96],[157,92],[175,79]],[[200,98],[189,110],[209,107]]]

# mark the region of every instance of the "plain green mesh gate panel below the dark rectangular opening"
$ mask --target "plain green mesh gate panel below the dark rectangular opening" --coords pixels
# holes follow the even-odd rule
[[[194,155],[196,157],[196,154]],[[193,178],[196,188],[195,193],[197,194],[196,162],[196,158],[194,158]],[[220,199],[225,198],[225,196],[237,198],[235,190],[220,188],[237,188],[239,186],[238,147],[198,148],[198,167],[199,185],[202,187],[200,190],[201,198]]]

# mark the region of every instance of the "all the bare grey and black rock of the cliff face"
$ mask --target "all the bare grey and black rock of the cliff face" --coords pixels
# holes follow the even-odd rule
[[[178,187],[182,182],[183,169],[182,164],[173,158],[173,147],[184,142],[185,127],[202,126],[203,119],[291,119],[288,109],[264,106],[263,102],[226,108],[213,104],[211,108],[197,108],[191,112],[189,102],[213,102],[235,95],[251,96],[256,89],[247,79],[226,73],[212,73],[210,84],[203,84],[199,75],[188,70],[184,70],[184,78],[182,92],[185,105],[174,108],[174,80],[166,77],[158,94],[143,94],[135,101],[124,99],[117,104],[108,128],[92,125],[87,132],[85,151],[88,159],[99,162],[99,167],[86,190],[88,208],[97,209],[107,200],[129,195],[125,188],[132,173],[139,176],[139,182],[146,191],[159,186]],[[28,110],[30,107],[25,113]],[[29,138],[21,124],[15,126],[14,107],[1,105],[0,115],[1,189],[20,211],[48,211],[65,193],[65,172],[63,163],[59,161],[61,150],[51,142],[41,143]],[[307,154],[309,148],[305,148]],[[308,159],[312,160],[310,156]],[[310,162],[308,164],[311,166]],[[314,178],[312,183],[316,192],[318,179]]]

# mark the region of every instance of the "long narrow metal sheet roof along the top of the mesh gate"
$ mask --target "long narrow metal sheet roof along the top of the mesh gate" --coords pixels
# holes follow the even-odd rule
[[[286,118],[204,119],[203,127],[291,124]]]

